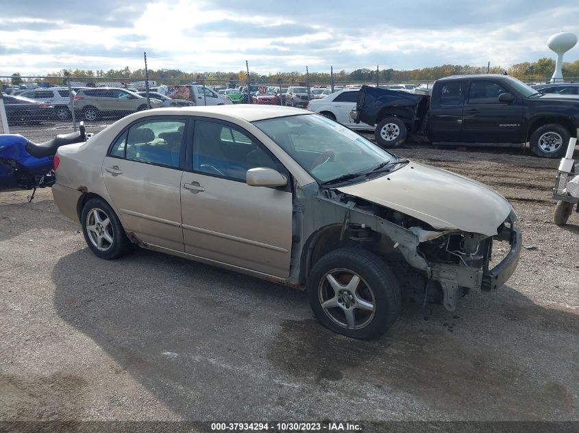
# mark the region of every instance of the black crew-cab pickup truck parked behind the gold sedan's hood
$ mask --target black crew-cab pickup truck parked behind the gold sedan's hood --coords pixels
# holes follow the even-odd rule
[[[579,128],[579,96],[543,94],[507,75],[436,80],[431,95],[362,86],[354,122],[376,125],[384,147],[421,135],[432,144],[524,146],[558,158]]]

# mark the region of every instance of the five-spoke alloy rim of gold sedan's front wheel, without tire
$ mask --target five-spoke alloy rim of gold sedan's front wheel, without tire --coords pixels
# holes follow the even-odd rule
[[[320,281],[318,296],[324,313],[342,328],[365,328],[375,315],[374,293],[356,272],[327,272]]]

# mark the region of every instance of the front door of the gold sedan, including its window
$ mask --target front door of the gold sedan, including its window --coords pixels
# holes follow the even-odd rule
[[[247,131],[227,122],[196,120],[191,144],[181,185],[185,252],[286,278],[293,210],[288,173]],[[284,172],[288,186],[247,185],[247,170],[256,167]]]

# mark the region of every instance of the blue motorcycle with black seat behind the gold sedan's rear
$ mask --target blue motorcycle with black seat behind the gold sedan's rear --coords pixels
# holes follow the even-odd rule
[[[79,131],[56,135],[44,143],[33,143],[19,134],[0,135],[0,189],[32,189],[31,202],[37,188],[54,185],[54,155],[60,146],[81,143],[87,139],[84,124]]]

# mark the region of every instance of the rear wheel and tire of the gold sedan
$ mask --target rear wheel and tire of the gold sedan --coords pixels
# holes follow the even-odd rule
[[[86,202],[81,225],[88,248],[100,259],[116,259],[129,251],[130,241],[121,221],[102,198],[90,198]]]

